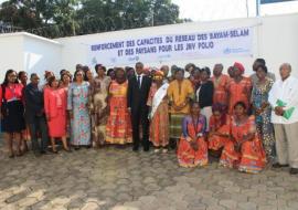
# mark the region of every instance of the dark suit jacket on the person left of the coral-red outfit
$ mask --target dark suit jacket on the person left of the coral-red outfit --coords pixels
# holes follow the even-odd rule
[[[24,87],[24,107],[28,123],[34,123],[43,111],[43,92],[31,83]]]

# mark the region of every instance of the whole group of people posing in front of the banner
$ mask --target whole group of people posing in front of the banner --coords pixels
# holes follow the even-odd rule
[[[280,65],[280,80],[267,71],[264,59],[253,64],[254,74],[235,62],[223,65],[163,65],[106,71],[76,65],[72,75],[45,72],[45,84],[33,73],[9,70],[0,90],[1,126],[9,157],[22,156],[26,138],[36,156],[58,153],[56,140],[71,153],[82,147],[132,143],[149,151],[177,150],[183,167],[205,166],[210,155],[223,167],[256,174],[266,164],[290,167],[298,174],[298,81],[288,63]],[[39,143],[38,139],[41,139]],[[70,138],[70,140],[68,140]],[[17,149],[13,149],[13,143]],[[49,144],[51,141],[51,144]]]

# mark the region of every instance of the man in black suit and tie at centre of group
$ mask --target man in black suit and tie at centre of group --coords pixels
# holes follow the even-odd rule
[[[136,75],[128,81],[128,111],[131,114],[134,151],[138,151],[140,143],[139,126],[142,126],[142,146],[149,151],[149,107],[147,106],[148,94],[151,86],[151,78],[143,75],[143,64],[136,63]]]

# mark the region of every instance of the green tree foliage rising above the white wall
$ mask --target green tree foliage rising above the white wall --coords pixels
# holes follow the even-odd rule
[[[0,21],[49,36],[185,22],[171,0],[8,0]]]

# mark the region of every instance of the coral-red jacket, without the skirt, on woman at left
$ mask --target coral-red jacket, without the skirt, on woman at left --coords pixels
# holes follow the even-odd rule
[[[44,92],[44,111],[50,117],[56,117],[58,115],[57,109],[57,96],[60,96],[63,109],[63,115],[66,115],[67,99],[65,88],[53,91],[51,88]]]

